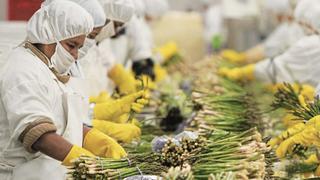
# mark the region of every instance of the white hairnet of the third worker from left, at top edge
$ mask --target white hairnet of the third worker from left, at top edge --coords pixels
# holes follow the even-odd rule
[[[128,22],[134,14],[134,5],[131,0],[100,0],[107,19]]]

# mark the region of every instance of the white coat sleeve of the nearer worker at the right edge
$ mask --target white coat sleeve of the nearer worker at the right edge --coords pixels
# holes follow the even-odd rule
[[[320,77],[320,37],[307,36],[284,54],[257,63],[255,76],[265,83],[294,83],[317,86]]]

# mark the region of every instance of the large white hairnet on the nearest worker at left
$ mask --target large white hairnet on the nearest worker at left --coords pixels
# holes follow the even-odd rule
[[[44,4],[27,24],[27,40],[52,44],[57,41],[89,34],[93,30],[91,15],[78,4],[55,0]]]

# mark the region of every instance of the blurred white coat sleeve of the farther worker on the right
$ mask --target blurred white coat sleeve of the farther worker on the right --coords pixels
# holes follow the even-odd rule
[[[267,38],[264,43],[266,57],[272,58],[284,53],[305,34],[301,26],[295,22],[283,22]]]

